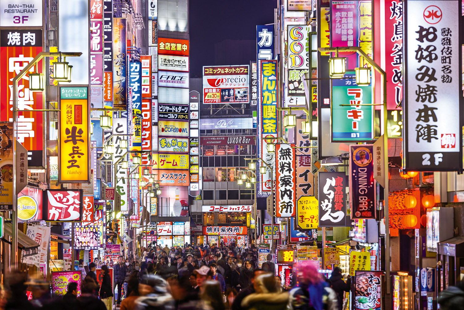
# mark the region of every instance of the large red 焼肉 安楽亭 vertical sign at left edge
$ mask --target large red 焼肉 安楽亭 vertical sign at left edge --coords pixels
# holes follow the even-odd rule
[[[3,11],[1,13],[1,22],[3,23],[4,18],[6,21],[6,16],[4,16]],[[42,18],[40,18],[40,22],[42,22]],[[40,52],[42,52],[42,30],[0,30],[0,61],[3,64],[0,68],[1,122],[13,121],[13,78]],[[35,72],[43,73],[42,69],[43,62],[39,61],[35,66]],[[29,89],[27,75],[18,81],[17,98],[19,110],[44,108],[42,92],[32,92]],[[18,112],[17,115],[17,139],[28,152],[31,152],[32,156],[28,156],[31,158],[28,159],[29,166],[45,167],[43,155],[45,150],[44,113]]]

